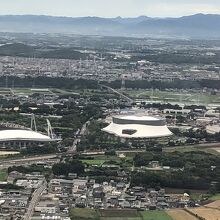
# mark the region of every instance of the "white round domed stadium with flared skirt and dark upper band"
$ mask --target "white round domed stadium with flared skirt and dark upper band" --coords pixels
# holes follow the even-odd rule
[[[113,116],[103,131],[122,138],[160,138],[172,135],[163,118],[153,116]]]

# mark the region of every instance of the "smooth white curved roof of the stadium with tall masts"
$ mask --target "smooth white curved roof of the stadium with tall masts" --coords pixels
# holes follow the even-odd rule
[[[0,130],[0,142],[5,141],[39,141],[49,142],[49,136],[32,130]]]

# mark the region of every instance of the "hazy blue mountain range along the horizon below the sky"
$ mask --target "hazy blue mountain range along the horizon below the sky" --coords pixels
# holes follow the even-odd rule
[[[0,16],[0,31],[220,39],[220,15],[196,14],[180,18],[5,15]]]

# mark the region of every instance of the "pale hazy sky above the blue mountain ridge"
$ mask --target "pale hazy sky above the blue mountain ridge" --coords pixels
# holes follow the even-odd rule
[[[179,17],[220,14],[220,0],[0,0],[0,14]]]

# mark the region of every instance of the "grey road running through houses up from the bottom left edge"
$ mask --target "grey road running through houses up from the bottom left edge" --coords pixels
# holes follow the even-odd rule
[[[32,194],[32,199],[29,203],[29,206],[28,206],[28,210],[24,216],[24,220],[30,220],[32,215],[33,215],[33,212],[34,212],[34,208],[35,206],[37,205],[38,201],[39,201],[39,198],[40,196],[42,195],[43,191],[47,188],[47,184],[46,182],[41,185],[38,189],[36,189],[33,194]]]

